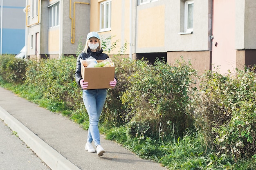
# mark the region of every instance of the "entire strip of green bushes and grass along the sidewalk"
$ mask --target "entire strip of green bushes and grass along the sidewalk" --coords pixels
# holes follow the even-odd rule
[[[112,60],[119,81],[108,89],[99,127],[107,139],[173,170],[255,169],[254,68],[236,75],[207,72],[195,90],[191,85],[196,72],[183,61],[169,66],[159,61],[150,65],[142,60]],[[20,71],[15,70],[17,62]],[[0,83],[13,84],[22,97],[88,129],[82,91],[74,81],[75,64],[72,56],[36,62],[3,55]],[[183,136],[193,123],[199,131]]]

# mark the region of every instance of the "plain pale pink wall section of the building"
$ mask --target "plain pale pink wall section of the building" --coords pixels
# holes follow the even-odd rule
[[[235,15],[234,0],[213,0],[212,70],[222,74],[236,68]]]

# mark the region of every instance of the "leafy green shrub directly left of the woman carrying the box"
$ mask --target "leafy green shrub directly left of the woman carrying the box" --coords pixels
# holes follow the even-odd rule
[[[81,89],[74,79],[76,59],[63,57],[61,60],[32,61],[26,72],[23,86],[34,87],[42,97],[56,102],[65,102],[71,108],[81,106]]]

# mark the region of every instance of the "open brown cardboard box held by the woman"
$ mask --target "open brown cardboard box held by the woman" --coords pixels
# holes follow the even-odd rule
[[[98,63],[102,61],[97,60]],[[115,66],[87,68],[81,64],[81,75],[84,82],[88,82],[87,89],[113,88],[109,85],[109,82],[114,81]]]

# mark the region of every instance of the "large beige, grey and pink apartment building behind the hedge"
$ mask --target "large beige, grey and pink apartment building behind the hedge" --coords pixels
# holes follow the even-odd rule
[[[255,8],[255,0],[26,0],[27,55],[75,54],[97,31],[116,43],[110,56],[170,64],[183,56],[199,72],[227,73],[256,64]]]

